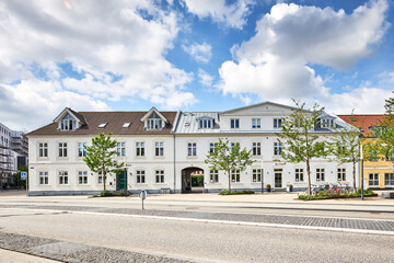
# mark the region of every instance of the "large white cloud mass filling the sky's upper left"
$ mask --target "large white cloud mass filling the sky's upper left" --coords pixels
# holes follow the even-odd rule
[[[30,102],[40,94],[34,91],[37,83],[58,83],[62,89],[48,89],[47,98],[63,92],[92,105],[107,99],[138,98],[171,107],[175,105],[171,94],[184,99],[177,106],[196,101],[185,91],[192,76],[164,57],[178,33],[177,14],[149,0],[69,3],[71,9],[63,1],[0,2],[0,84],[26,80],[24,85],[32,90],[26,93],[32,96]],[[59,64],[71,65],[82,79],[74,75],[62,79]],[[0,89],[13,98],[11,87]],[[0,112],[5,114],[5,108]]]

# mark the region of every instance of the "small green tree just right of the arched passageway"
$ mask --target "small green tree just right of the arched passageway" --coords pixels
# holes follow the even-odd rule
[[[245,171],[247,165],[253,163],[252,150],[246,148],[241,150],[240,144],[231,146],[229,140],[215,144],[213,149],[207,155],[205,163],[209,164],[210,170],[225,171],[229,178],[229,191],[231,192],[231,171]]]

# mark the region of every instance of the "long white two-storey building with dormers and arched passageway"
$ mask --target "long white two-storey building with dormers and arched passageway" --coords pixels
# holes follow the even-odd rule
[[[92,194],[103,190],[102,176],[89,171],[83,162],[83,145],[90,145],[100,132],[113,133],[118,141],[119,161],[127,162],[128,190],[150,193],[171,190],[192,191],[190,173],[202,171],[205,191],[228,187],[222,171],[210,171],[204,162],[219,138],[241,148],[253,149],[254,164],[231,174],[232,188],[262,190],[262,183],[282,191],[288,184],[296,190],[306,187],[304,163],[286,163],[280,159],[281,146],[276,133],[281,119],[293,107],[265,102],[228,112],[81,112],[65,108],[54,123],[34,130],[28,137],[30,194]],[[347,125],[325,115],[326,123]],[[318,127],[322,140],[334,130]],[[312,184],[352,185],[351,165],[325,159],[311,163]],[[124,174],[111,174],[109,190],[125,187]],[[263,182],[262,182],[263,181]]]

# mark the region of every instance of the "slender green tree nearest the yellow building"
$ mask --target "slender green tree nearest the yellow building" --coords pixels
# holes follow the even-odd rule
[[[352,164],[354,192],[356,193],[356,164],[360,161],[360,129],[349,125],[335,127],[336,136],[328,138],[329,155],[338,163]]]

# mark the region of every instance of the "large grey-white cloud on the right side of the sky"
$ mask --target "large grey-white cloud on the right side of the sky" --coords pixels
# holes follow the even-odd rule
[[[387,28],[386,10],[385,0],[371,1],[350,14],[278,3],[257,22],[250,41],[232,47],[233,60],[221,65],[218,88],[240,99],[257,95],[259,101],[289,102],[290,98],[312,98],[334,103],[334,98],[346,95],[334,96],[314,65],[346,70],[371,54]]]

